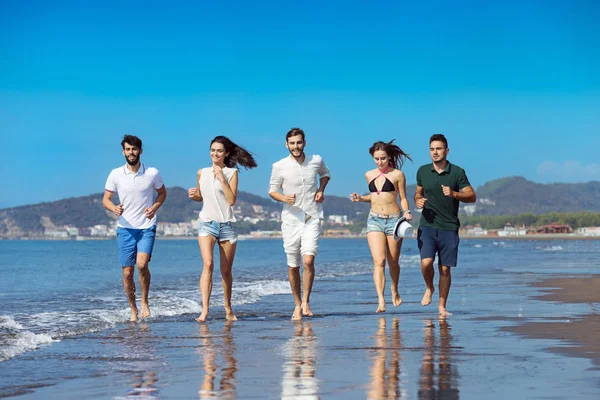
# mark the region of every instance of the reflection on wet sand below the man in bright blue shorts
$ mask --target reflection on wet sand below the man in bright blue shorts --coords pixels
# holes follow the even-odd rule
[[[124,339],[128,349],[128,358],[133,358],[137,362],[152,356],[153,336],[149,324],[130,324],[129,334]],[[158,374],[152,370],[146,371],[146,368],[147,366],[143,366],[142,371],[133,374],[131,389],[127,392],[126,398],[158,399],[158,389],[156,388]]]

